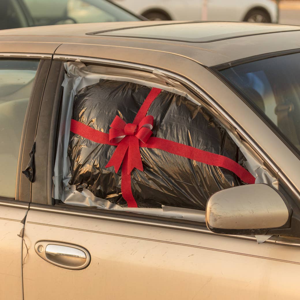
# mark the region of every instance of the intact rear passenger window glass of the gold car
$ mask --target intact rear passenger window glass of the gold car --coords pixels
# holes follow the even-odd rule
[[[0,196],[14,198],[19,147],[38,60],[0,60]]]

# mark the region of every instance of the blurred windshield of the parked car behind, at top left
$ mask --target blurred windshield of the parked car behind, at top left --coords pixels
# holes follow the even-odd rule
[[[107,0],[23,0],[23,2],[35,26],[140,21],[138,17]]]

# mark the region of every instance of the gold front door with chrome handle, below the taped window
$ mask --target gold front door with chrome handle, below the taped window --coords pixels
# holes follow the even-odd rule
[[[213,234],[203,221],[82,208],[52,199],[61,59],[51,65],[36,134],[36,181],[23,243],[24,299],[298,298],[297,240],[292,241],[296,247],[278,237],[258,245],[254,236]],[[199,77],[201,72],[213,76],[197,68]],[[227,90],[230,101],[238,99]],[[292,194],[288,188],[287,193]]]

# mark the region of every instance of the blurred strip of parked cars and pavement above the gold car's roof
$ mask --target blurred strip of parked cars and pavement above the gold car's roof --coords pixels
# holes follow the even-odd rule
[[[300,25],[300,0],[0,0],[0,29],[146,19]]]

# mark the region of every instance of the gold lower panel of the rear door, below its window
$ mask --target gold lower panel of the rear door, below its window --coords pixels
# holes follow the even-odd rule
[[[22,236],[28,207],[28,204],[0,200],[0,295],[3,300],[23,299]]]

